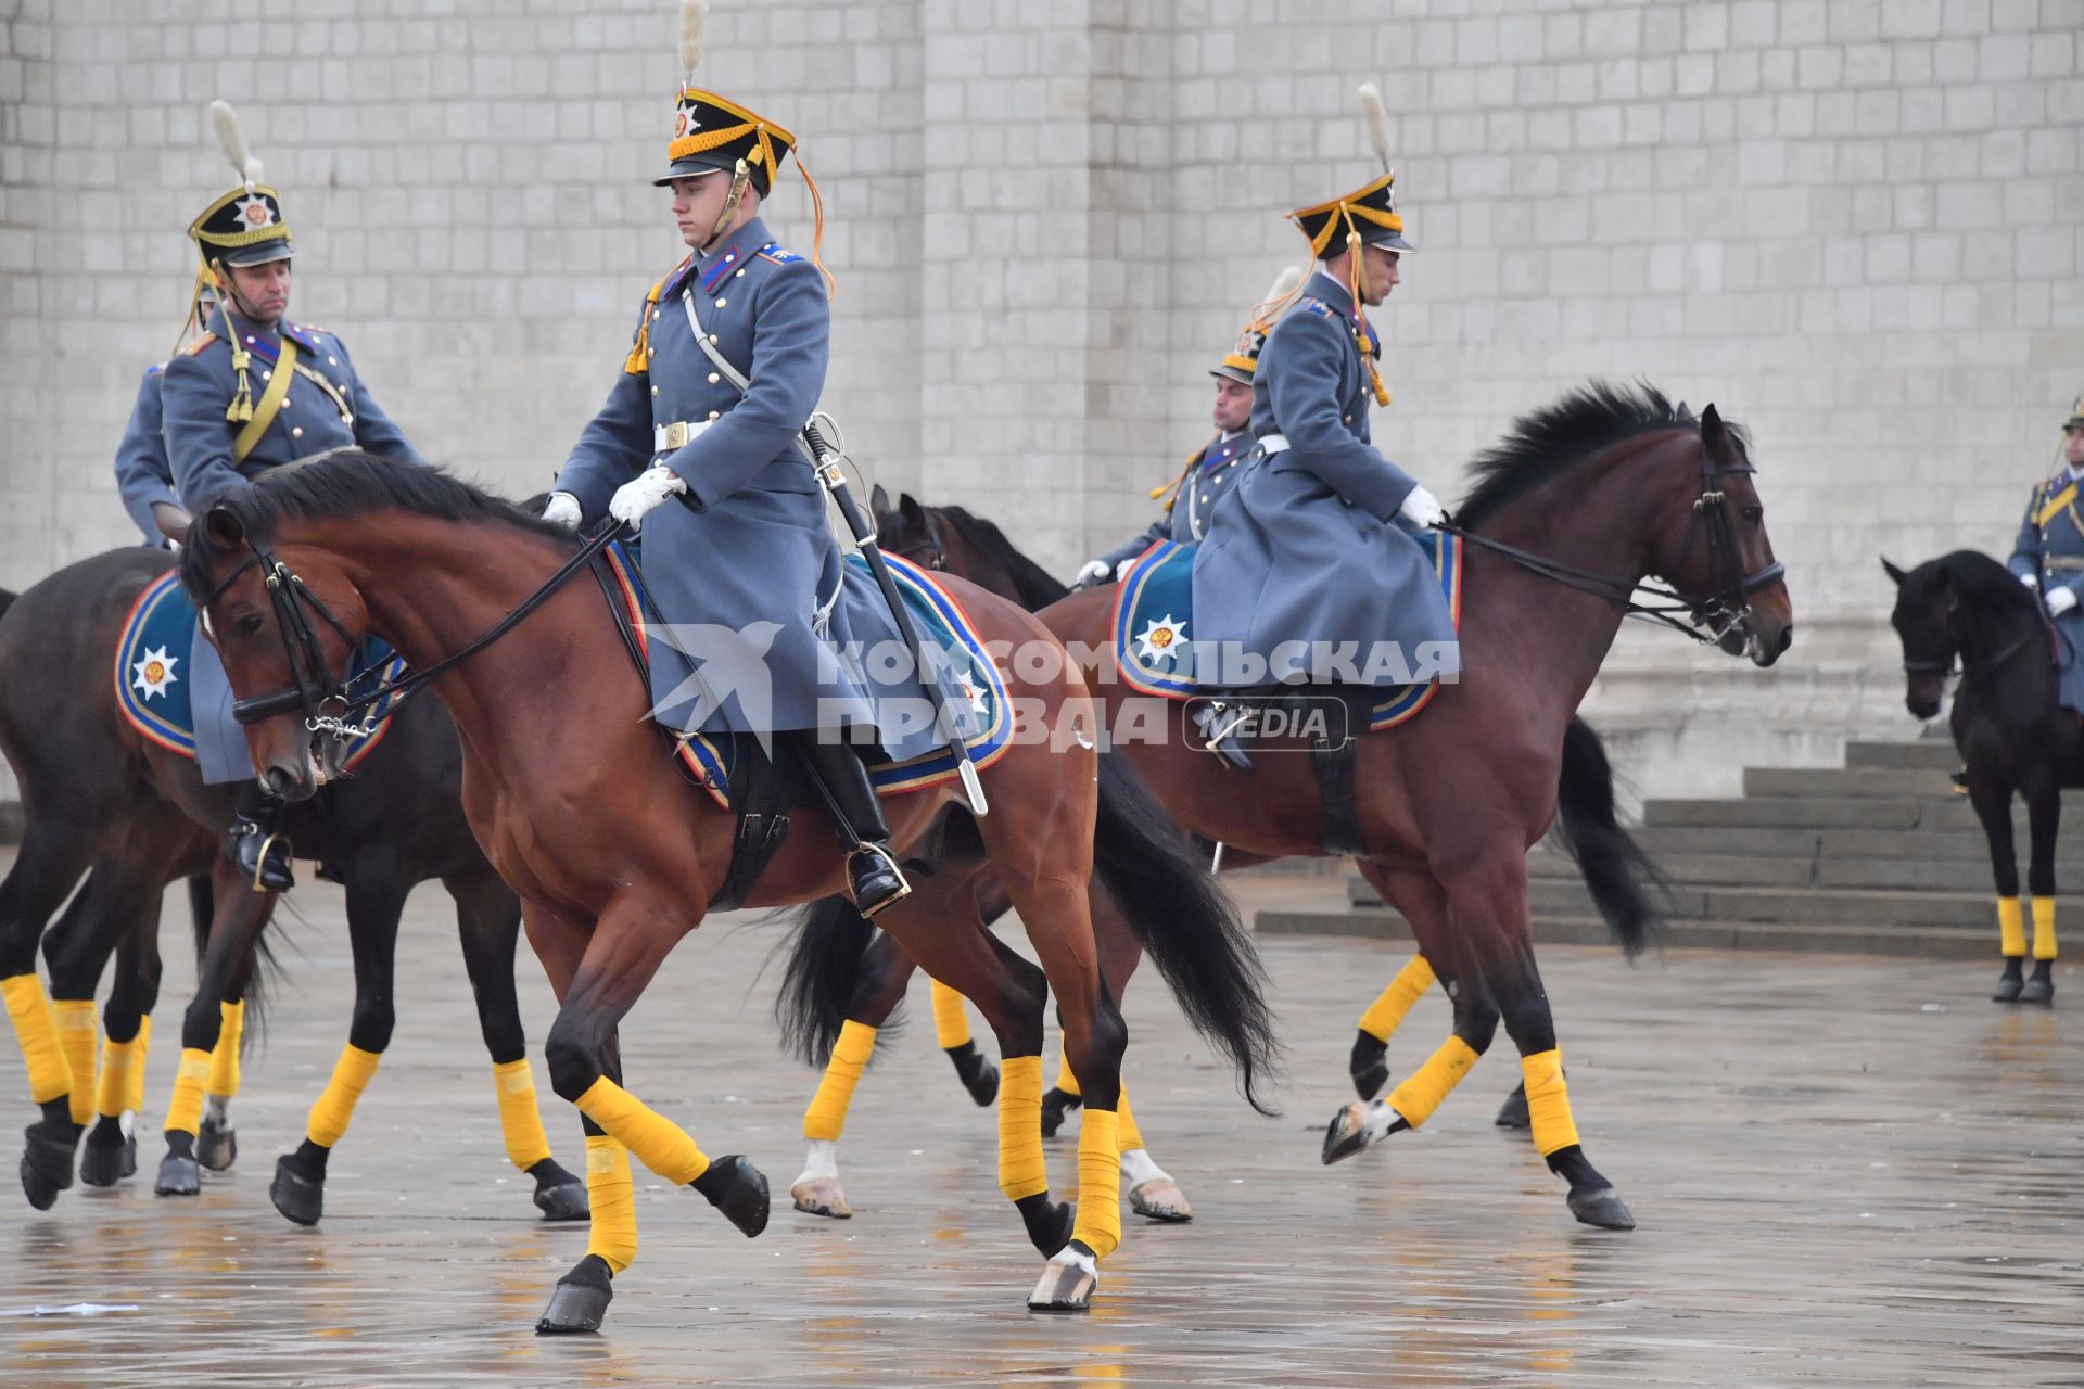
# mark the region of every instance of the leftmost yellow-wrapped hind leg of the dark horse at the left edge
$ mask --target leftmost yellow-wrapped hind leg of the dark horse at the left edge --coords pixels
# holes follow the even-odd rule
[[[94,860],[94,835],[54,816],[31,818],[6,881],[0,881],[0,1000],[29,1066],[29,1100],[42,1110],[27,1129],[21,1187],[35,1210],[50,1210],[73,1183],[73,1068],[58,1016],[35,973],[44,925]]]

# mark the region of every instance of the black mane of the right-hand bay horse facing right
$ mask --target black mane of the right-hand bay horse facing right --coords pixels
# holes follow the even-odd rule
[[[1619,385],[1590,381],[1555,404],[1513,421],[1513,431],[1469,464],[1471,487],[1455,512],[1455,523],[1478,529],[1515,498],[1555,481],[1563,473],[1613,444],[1659,429],[1692,429],[1692,412],[1673,406],[1648,381]],[[1740,425],[1730,425],[1748,448]]]

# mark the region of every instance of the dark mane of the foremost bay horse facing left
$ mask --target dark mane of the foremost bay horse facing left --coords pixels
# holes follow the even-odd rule
[[[396,462],[363,452],[340,452],[311,462],[273,469],[252,487],[227,494],[219,506],[238,516],[248,539],[269,541],[283,521],[331,521],[371,510],[408,510],[442,521],[498,521],[571,548],[577,537],[565,527],[534,516],[504,498],[450,477],[442,469]],[[233,556],[210,539],[198,516],[181,546],[181,583],[190,591]]]

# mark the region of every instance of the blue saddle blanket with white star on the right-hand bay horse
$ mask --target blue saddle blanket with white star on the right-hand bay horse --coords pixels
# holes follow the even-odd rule
[[[1432,558],[1440,591],[1446,594],[1448,610],[1455,614],[1455,629],[1461,631],[1463,541],[1442,531],[1425,531],[1417,541]],[[1161,539],[1144,550],[1115,591],[1115,671],[1138,693],[1167,700],[1217,693],[1192,679],[1196,548]],[[1373,704],[1367,731],[1380,733],[1417,718],[1436,689],[1440,681],[1386,687]]]

